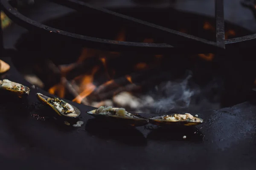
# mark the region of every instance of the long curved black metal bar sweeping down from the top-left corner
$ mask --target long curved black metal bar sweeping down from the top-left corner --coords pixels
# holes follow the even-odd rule
[[[106,40],[101,38],[88,37],[84,35],[74,34],[63,30],[58,30],[46,26],[44,24],[38,23],[31,20],[24,15],[20,14],[15,8],[13,8],[8,0],[1,0],[2,10],[6,15],[20,26],[24,26],[27,29],[32,29],[33,31],[40,31],[40,33],[54,34],[62,37],[69,37],[70,40],[79,41],[87,47],[96,47],[113,51],[145,51],[161,53],[163,51],[172,51],[172,46],[168,44],[158,44],[158,43],[140,43],[140,42],[123,42],[116,40]]]

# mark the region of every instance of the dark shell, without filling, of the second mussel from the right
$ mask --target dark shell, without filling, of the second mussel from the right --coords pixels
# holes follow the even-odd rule
[[[118,108],[113,108],[116,110]],[[119,125],[129,125],[129,126],[143,126],[148,124],[148,119],[140,118],[126,111],[127,116],[117,116],[117,115],[107,115],[107,114],[96,114],[96,109],[92,111],[87,111],[88,114],[94,116],[98,119],[103,119],[104,121],[114,122]]]

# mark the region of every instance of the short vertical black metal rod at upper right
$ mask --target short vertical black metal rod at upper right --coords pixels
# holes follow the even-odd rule
[[[224,28],[224,6],[223,0],[215,0],[216,19],[216,43],[219,47],[225,48],[225,28]]]

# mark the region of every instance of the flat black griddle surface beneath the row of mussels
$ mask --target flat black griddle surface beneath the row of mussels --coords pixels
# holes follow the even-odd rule
[[[30,84],[12,65],[0,78]],[[27,101],[0,94],[1,169],[27,170],[255,170],[256,106],[245,102],[232,108],[198,113],[197,128],[163,130],[153,125],[125,129],[110,127],[81,110],[82,127],[54,119],[41,120],[44,107],[31,89]],[[196,114],[196,113],[193,113]],[[34,116],[32,116],[34,115]],[[152,114],[140,114],[145,117]],[[183,136],[186,139],[183,139]]]

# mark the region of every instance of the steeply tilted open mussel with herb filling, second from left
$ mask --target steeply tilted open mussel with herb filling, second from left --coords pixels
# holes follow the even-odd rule
[[[81,114],[78,108],[76,108],[73,105],[70,105],[69,103],[61,99],[45,96],[41,93],[37,93],[36,96],[39,99],[39,101],[51,107],[59,116],[76,118]]]

